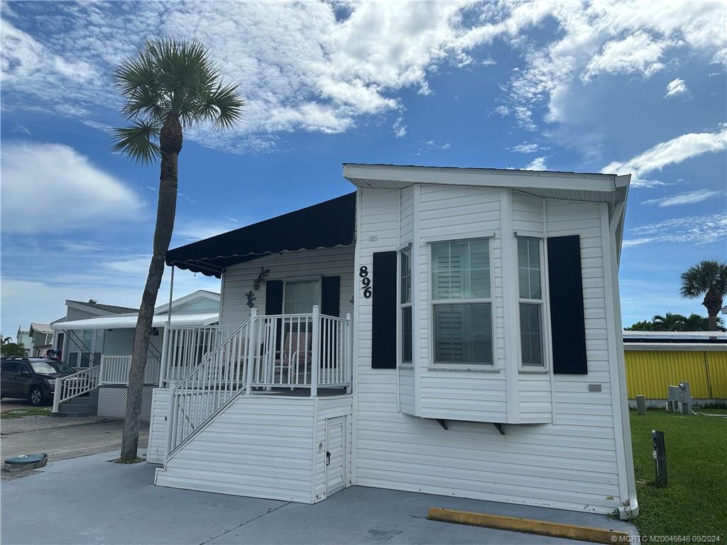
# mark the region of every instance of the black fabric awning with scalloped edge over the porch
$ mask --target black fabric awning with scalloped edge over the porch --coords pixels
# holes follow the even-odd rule
[[[166,265],[220,278],[225,267],[282,251],[353,244],[356,193],[166,252]]]

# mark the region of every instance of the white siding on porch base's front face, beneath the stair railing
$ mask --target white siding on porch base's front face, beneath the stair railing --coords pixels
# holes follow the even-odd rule
[[[157,470],[156,485],[313,503],[315,399],[237,397]]]

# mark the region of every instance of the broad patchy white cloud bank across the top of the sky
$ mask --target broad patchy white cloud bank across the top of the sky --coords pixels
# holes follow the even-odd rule
[[[232,132],[201,127],[190,139],[266,153],[278,149],[278,132],[344,132],[364,116],[397,110],[399,92],[428,94],[428,76],[444,62],[489,64],[481,52],[496,39],[521,53],[524,66],[513,70],[494,111],[527,130],[537,128],[543,105],[547,121],[566,120],[584,81],[648,77],[672,52],[719,59],[726,46],[719,2],[363,2],[347,4],[344,16],[339,8],[220,1],[60,3],[53,15],[4,9],[4,102],[103,126],[89,117],[118,108],[109,77],[122,57],[148,36],[196,37],[240,84],[247,106]],[[85,21],[93,24],[77,24]],[[552,37],[533,39],[546,21]]]

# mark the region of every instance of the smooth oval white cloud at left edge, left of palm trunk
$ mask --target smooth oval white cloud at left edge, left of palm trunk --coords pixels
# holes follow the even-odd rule
[[[66,145],[4,145],[2,178],[5,233],[59,233],[142,215],[132,190]]]

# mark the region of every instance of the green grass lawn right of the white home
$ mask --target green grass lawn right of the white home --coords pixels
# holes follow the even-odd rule
[[[727,414],[724,409],[696,409]],[[720,536],[727,540],[727,418],[630,411],[643,536]],[[664,432],[666,488],[654,486],[651,430]],[[690,541],[691,542],[691,541]]]

